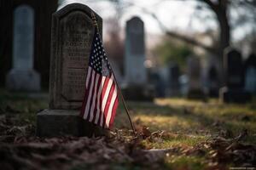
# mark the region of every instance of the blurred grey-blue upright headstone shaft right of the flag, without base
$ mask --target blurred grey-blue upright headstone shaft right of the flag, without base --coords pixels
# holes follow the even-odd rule
[[[147,82],[145,61],[144,23],[138,17],[126,22],[125,78],[129,84]]]

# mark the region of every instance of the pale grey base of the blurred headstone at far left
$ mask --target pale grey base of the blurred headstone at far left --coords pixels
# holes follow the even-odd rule
[[[31,91],[40,90],[40,75],[34,70],[12,69],[6,77],[6,87],[14,91]]]

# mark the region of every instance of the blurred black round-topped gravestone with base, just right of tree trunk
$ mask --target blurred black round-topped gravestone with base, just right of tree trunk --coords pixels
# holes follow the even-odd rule
[[[225,87],[220,88],[219,97],[223,102],[245,103],[251,99],[244,87],[244,70],[241,53],[236,49],[226,48],[224,51]]]

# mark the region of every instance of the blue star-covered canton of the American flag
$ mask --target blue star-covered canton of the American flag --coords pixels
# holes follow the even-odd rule
[[[110,77],[111,67],[98,32],[93,37],[89,65],[103,77]]]

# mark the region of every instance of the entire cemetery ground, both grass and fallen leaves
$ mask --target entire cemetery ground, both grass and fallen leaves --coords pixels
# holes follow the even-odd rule
[[[48,108],[47,95],[30,98],[0,90],[0,165],[73,170],[256,167],[255,100],[247,105],[224,105],[218,99],[177,98],[127,105],[136,138],[119,105],[113,132],[105,139],[39,139],[35,137],[36,113]],[[25,152],[26,159],[22,159]]]

